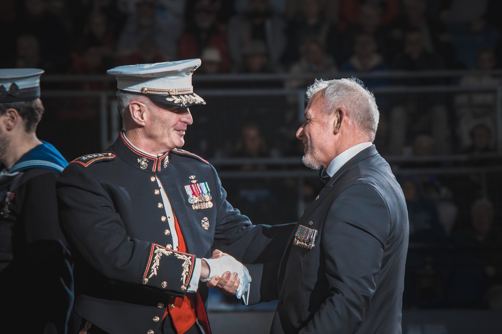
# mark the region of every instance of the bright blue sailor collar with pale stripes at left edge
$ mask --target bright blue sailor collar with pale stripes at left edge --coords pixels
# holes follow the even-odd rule
[[[47,168],[62,172],[68,166],[63,155],[51,144],[42,140],[42,144],[26,152],[11,169],[0,172],[0,178],[17,175],[27,169]]]

